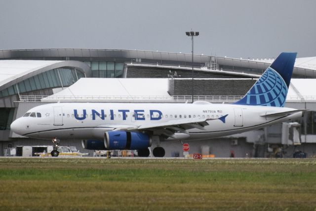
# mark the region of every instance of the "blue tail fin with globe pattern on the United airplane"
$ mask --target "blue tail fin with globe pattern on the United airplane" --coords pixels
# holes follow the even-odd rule
[[[280,53],[247,94],[234,104],[284,107],[297,53]]]

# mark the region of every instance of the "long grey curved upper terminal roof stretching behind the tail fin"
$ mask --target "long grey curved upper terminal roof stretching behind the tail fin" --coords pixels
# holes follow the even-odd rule
[[[246,69],[265,70],[273,59],[242,59],[209,55],[194,55],[196,66],[210,63],[216,58],[220,65],[244,67]],[[0,50],[0,59],[55,59],[55,60],[95,60],[94,58],[107,58],[116,61],[138,61],[139,63],[161,63],[178,65],[191,65],[192,55],[188,53],[168,53],[158,51],[116,50],[116,49],[26,49],[26,50]],[[96,59],[96,60],[98,60]],[[293,73],[308,77],[316,76],[316,57],[297,58]],[[256,73],[255,73],[256,74]]]

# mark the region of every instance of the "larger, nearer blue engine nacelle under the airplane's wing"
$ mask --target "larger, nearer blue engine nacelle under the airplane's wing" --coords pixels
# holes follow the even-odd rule
[[[139,150],[150,147],[152,141],[144,133],[107,131],[104,134],[104,144],[108,150]]]

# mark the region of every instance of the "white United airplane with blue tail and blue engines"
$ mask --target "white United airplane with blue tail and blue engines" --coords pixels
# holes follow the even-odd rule
[[[162,141],[206,140],[300,118],[284,107],[297,53],[280,53],[246,95],[233,104],[54,103],[36,106],[11,124],[19,135],[79,139],[88,150],[138,150],[164,157]],[[56,139],[54,139],[56,140]],[[58,156],[58,143],[51,152]]]

